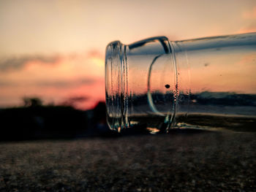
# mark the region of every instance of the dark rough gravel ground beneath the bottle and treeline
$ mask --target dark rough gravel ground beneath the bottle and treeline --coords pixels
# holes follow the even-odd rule
[[[1,142],[0,191],[256,191],[256,133]]]

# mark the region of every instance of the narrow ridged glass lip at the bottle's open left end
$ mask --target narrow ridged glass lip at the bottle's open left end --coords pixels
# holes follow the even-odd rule
[[[110,42],[105,55],[105,93],[108,126],[116,131],[127,127],[128,93],[126,45]]]

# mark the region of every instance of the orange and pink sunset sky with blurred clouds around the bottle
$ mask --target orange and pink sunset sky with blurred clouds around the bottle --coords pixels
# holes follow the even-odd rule
[[[256,1],[0,1],[0,107],[105,100],[105,47],[256,31]]]

